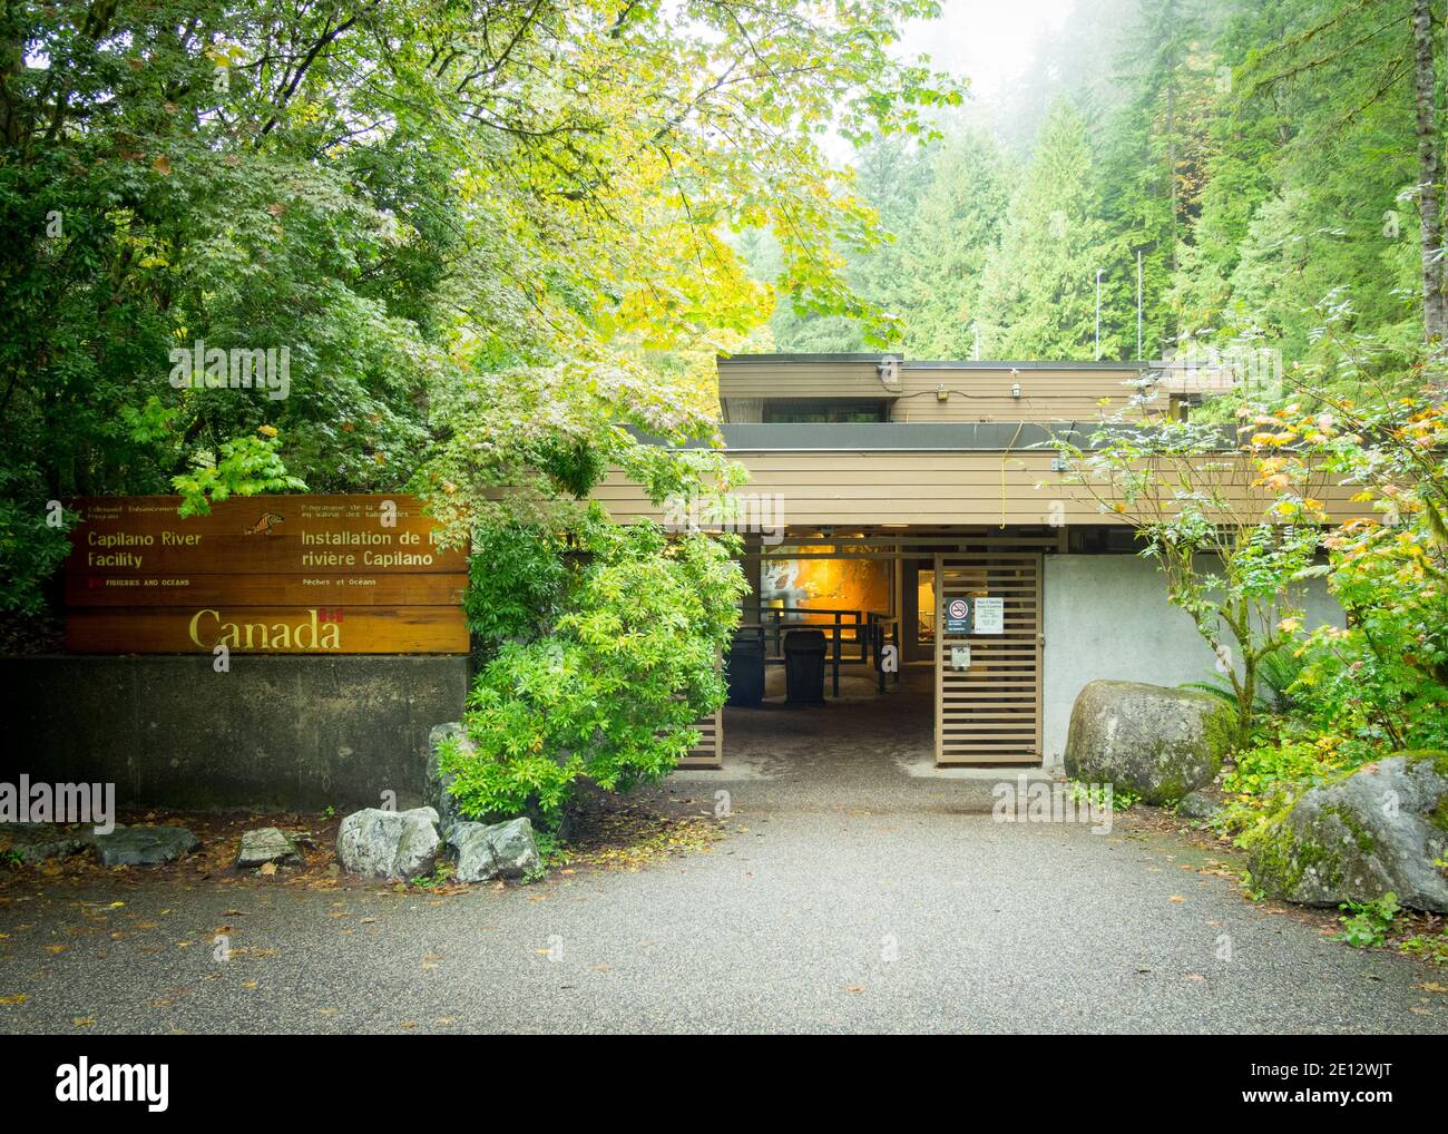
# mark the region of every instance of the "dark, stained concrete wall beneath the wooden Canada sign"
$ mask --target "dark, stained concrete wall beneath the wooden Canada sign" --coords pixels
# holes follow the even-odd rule
[[[465,656],[0,658],[0,779],[114,782],[123,805],[339,811],[423,794]]]

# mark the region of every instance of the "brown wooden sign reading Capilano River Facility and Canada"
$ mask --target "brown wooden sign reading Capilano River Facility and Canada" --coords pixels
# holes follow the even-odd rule
[[[68,501],[78,653],[466,653],[468,555],[405,495]]]

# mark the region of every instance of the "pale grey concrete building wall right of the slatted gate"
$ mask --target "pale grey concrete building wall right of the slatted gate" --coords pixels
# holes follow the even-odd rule
[[[1154,562],[1135,555],[1048,555],[1043,582],[1041,746],[1058,768],[1076,694],[1089,681],[1182,685],[1206,681],[1216,658],[1192,618],[1167,602]],[[1342,626],[1342,608],[1315,581],[1305,626]]]

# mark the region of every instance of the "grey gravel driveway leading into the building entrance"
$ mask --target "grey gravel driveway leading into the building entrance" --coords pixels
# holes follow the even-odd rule
[[[1174,833],[996,823],[993,779],[911,773],[928,720],[882,720],[731,713],[734,762],[668,785],[728,792],[728,836],[639,872],[16,892],[0,1030],[1448,1031],[1442,973],[1248,904]]]

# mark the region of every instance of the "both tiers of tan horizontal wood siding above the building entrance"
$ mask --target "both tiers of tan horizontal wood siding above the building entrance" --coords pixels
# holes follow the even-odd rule
[[[1096,423],[1183,416],[1229,379],[1164,362],[736,355],[718,364],[720,434],[749,471],[746,491],[780,507],[795,532],[1037,526],[1064,539],[1067,527],[1128,520],[1074,484],[1053,439],[1090,448]],[[1235,449],[1224,432],[1222,455],[1203,468],[1226,497],[1266,510],[1273,495]],[[1352,491],[1323,482],[1313,495],[1345,518]],[[666,520],[620,469],[594,497],[618,517]]]

